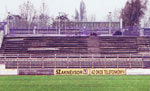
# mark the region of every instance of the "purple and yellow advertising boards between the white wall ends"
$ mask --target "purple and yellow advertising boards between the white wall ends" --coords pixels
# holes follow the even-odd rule
[[[18,69],[18,75],[125,75],[125,69]]]

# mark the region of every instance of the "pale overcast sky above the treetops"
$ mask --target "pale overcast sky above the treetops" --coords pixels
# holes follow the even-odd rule
[[[0,0],[0,20],[7,15],[7,12],[17,14],[19,5],[27,0]],[[44,1],[48,6],[50,16],[58,15],[58,12],[66,12],[69,17],[79,10],[81,0],[29,0],[36,9],[39,9]],[[108,12],[119,10],[124,7],[127,0],[83,0],[86,4],[87,15],[96,15],[97,20],[103,20]]]

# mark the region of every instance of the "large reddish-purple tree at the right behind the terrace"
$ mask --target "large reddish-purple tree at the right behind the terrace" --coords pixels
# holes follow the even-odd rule
[[[122,9],[121,17],[124,26],[139,25],[141,17],[145,14],[147,0],[130,0],[127,1]]]

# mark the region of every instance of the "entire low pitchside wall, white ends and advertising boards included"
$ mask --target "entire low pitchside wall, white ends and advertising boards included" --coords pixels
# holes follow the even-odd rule
[[[0,69],[0,75],[150,75],[150,69]]]

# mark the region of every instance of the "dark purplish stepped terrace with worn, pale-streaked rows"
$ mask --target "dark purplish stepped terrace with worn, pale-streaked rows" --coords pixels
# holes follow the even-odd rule
[[[4,54],[143,54],[149,37],[36,36],[4,38]]]

